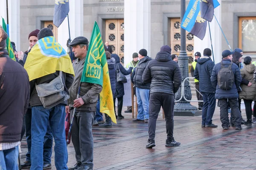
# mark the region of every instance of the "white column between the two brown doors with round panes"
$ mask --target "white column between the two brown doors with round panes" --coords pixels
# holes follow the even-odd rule
[[[125,63],[132,60],[132,54],[145,48],[150,55],[150,0],[125,0]]]

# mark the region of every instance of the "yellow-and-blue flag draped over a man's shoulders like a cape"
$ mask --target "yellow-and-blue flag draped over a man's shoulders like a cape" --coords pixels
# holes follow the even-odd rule
[[[32,47],[24,65],[29,81],[56,71],[73,74],[74,69],[67,52],[54,37],[44,37]]]

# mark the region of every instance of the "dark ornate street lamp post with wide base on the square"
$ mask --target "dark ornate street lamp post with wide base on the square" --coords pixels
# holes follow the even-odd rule
[[[180,0],[180,20],[182,21],[183,16],[186,11],[186,0]],[[180,66],[182,80],[189,77],[189,57],[186,53],[186,30],[180,28],[181,30],[181,48],[180,56],[178,57],[178,64]],[[175,99],[178,100],[181,97],[181,87],[175,94]],[[192,99],[191,89],[188,81],[184,82],[184,96],[187,100]],[[186,101],[183,97],[179,102],[176,102],[174,107],[175,116],[197,116],[201,112],[195,106],[192,106],[190,102]]]

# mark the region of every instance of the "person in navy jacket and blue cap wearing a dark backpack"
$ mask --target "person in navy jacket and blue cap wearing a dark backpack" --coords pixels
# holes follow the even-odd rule
[[[241,74],[238,66],[235,63],[232,63],[232,53],[229,50],[225,50],[222,52],[222,61],[216,64],[212,70],[211,82],[212,86],[216,88],[215,98],[219,101],[220,106],[220,114],[221,114],[221,123],[224,130],[228,129],[229,120],[228,120],[228,111],[227,106],[230,105],[231,111],[233,112],[234,124],[236,126],[236,130],[241,130],[241,113],[239,113],[239,105],[238,91],[240,89],[241,84]],[[231,70],[234,75],[234,82],[230,90],[221,89],[218,85],[218,73],[222,68],[222,64],[224,68],[228,68],[231,65]]]

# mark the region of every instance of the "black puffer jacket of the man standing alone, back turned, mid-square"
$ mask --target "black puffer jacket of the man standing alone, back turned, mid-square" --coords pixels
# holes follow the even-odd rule
[[[165,93],[174,95],[180,88],[182,78],[179,65],[171,55],[160,51],[156,59],[151,60],[144,73],[143,82],[150,83],[150,94]]]

